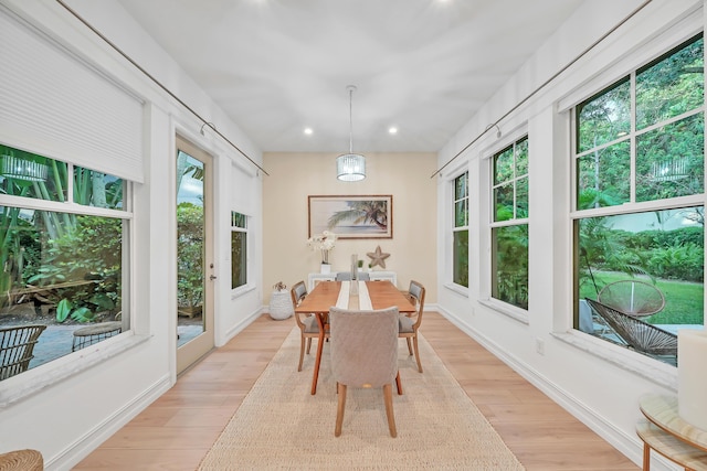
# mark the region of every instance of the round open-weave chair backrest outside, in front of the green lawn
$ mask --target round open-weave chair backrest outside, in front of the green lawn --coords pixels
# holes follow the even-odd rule
[[[665,297],[655,286],[640,280],[610,282],[599,291],[597,300],[624,314],[647,317],[665,307]]]

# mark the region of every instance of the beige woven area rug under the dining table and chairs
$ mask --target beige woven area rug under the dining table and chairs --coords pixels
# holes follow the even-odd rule
[[[382,389],[349,388],[342,432],[325,344],[310,395],[316,341],[297,372],[294,329],[233,415],[200,470],[523,470],[523,465],[424,339],[416,370],[404,341],[403,395],[393,395],[398,438],[388,432]],[[393,386],[393,392],[395,390]]]

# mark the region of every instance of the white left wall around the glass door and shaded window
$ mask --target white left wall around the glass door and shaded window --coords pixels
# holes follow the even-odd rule
[[[198,118],[57,2],[3,0],[2,3],[146,101],[145,183],[134,185],[131,332],[0,384],[0,452],[34,448],[42,452],[48,470],[70,469],[176,381],[175,133],[181,133],[214,157],[218,345],[261,313],[262,182],[252,163],[213,133],[207,131],[201,136],[202,122]],[[262,162],[261,151],[117,2],[68,3],[168,89],[214,122],[252,159]],[[231,184],[234,165],[244,169],[247,185]],[[241,194],[243,191],[246,194]],[[234,207],[238,201],[256,202],[249,208],[253,217],[253,270],[252,283],[232,292],[230,212],[239,210]]]

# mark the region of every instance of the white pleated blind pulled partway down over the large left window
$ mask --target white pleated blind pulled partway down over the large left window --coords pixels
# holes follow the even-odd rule
[[[0,6],[0,141],[143,182],[143,101]]]

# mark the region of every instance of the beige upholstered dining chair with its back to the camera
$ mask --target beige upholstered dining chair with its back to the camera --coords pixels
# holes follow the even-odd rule
[[[398,308],[349,311],[331,307],[331,373],[337,383],[338,406],[334,436],[341,435],[346,392],[351,387],[383,387],[391,437],[397,437],[392,383],[398,376]]]

